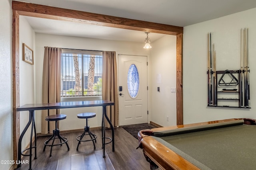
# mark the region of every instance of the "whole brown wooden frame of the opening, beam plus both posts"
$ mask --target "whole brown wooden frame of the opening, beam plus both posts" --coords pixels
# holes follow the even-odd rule
[[[93,14],[26,2],[12,1],[12,84],[13,84],[13,160],[17,160],[18,139],[20,137],[20,69],[19,69],[19,17],[31,16],[62,21],[74,21],[96,24],[136,31],[176,35],[176,114],[177,125],[183,124],[183,90],[182,90],[182,44],[183,27],[131,20],[114,16]]]

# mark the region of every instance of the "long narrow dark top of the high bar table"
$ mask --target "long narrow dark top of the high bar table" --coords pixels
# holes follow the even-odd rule
[[[111,106],[114,102],[109,100],[79,101],[79,102],[57,102],[46,104],[25,104],[17,107],[17,111],[44,110],[44,109],[64,109],[76,107],[92,107],[92,106]]]

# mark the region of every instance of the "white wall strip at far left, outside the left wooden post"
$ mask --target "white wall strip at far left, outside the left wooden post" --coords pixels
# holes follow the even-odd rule
[[[0,160],[13,160],[12,143],[12,8],[0,1]],[[7,170],[11,164],[0,164]]]

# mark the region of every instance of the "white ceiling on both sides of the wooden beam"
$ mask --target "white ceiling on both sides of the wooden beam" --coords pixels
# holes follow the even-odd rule
[[[188,26],[251,8],[256,0],[22,0],[34,4],[92,12],[134,20],[175,26]],[[70,35],[97,39],[144,42],[146,34],[97,25],[26,17],[38,33]],[[150,33],[155,41],[163,35]]]

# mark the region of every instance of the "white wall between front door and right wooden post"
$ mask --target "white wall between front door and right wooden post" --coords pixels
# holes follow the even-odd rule
[[[176,88],[176,36],[166,35],[152,43],[150,55],[151,121],[176,125],[176,93],[171,93],[171,88]]]

